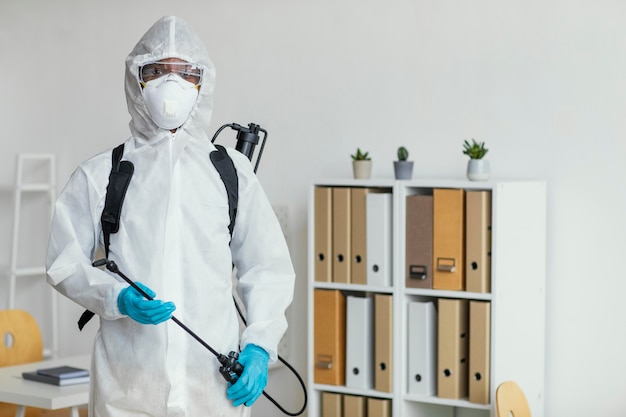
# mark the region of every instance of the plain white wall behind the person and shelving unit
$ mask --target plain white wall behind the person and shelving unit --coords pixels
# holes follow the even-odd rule
[[[495,179],[548,181],[546,415],[623,415],[626,3],[2,0],[1,184],[18,152],[54,152],[63,183],[125,139],[124,58],[165,14],[190,21],[215,61],[213,128],[256,122],[270,133],[259,176],[291,210],[298,369],[310,182],[350,176],[357,146],[373,155],[376,177],[392,175],[406,145],[416,177],[460,178],[462,142],[473,137],[487,142]],[[9,193],[0,207],[6,264]],[[89,350],[93,330],[77,334],[78,313],[63,304],[64,354]],[[271,379],[297,408],[288,375]],[[255,415],[278,413],[262,405]]]

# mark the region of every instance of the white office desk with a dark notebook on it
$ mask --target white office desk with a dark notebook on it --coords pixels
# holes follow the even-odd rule
[[[22,372],[61,365],[89,369],[90,355],[0,368],[0,402],[17,404],[16,417],[24,417],[27,406],[48,410],[69,407],[71,417],[78,417],[78,406],[89,402],[89,384],[59,387],[22,378]]]

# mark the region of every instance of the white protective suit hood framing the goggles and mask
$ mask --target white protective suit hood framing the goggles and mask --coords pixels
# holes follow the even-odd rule
[[[213,114],[215,67],[191,25],[175,16],[159,19],[126,58],[125,91],[128,112],[132,117],[131,133],[145,141],[157,140],[169,134],[168,130],[159,128],[152,121],[137,76],[141,65],[165,58],[180,58],[203,67],[198,100],[187,121],[178,129],[177,137],[189,135],[201,141],[209,139],[207,132]]]

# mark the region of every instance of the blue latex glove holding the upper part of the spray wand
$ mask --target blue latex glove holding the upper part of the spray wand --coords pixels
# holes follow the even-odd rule
[[[137,286],[146,292],[150,297],[156,293],[140,282]],[[117,297],[117,306],[120,313],[130,316],[141,324],[159,324],[170,317],[176,310],[176,306],[171,301],[148,300],[131,286],[124,288]]]

